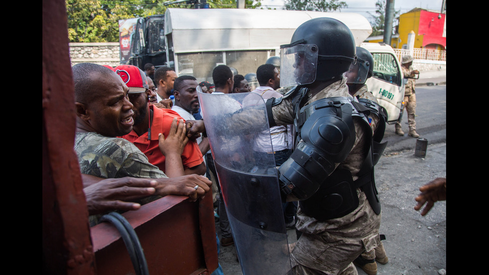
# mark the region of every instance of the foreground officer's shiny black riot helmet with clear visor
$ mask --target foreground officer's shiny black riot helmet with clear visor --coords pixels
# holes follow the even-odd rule
[[[282,79],[293,79],[284,86],[331,80],[355,62],[355,38],[343,22],[334,18],[319,17],[302,23],[290,42],[280,46],[280,84]],[[297,67],[302,64],[304,69],[300,71]]]

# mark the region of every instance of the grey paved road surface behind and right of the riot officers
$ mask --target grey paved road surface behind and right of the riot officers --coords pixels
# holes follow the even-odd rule
[[[427,74],[425,74],[427,75]],[[417,90],[416,118],[419,133],[428,139],[424,158],[414,155],[416,138],[400,137],[394,125],[387,126],[390,145],[375,168],[377,189],[382,202],[381,234],[389,263],[378,265],[378,275],[439,275],[447,266],[446,202],[437,202],[427,216],[413,207],[418,188],[437,177],[446,177],[446,75],[435,72],[434,85],[423,82]],[[423,81],[423,80],[421,80]],[[432,108],[435,111],[426,111]],[[425,111],[423,111],[425,110]],[[430,114],[431,113],[431,114]],[[439,121],[433,121],[433,117]],[[403,123],[407,122],[407,117]],[[406,125],[407,127],[407,125]],[[219,224],[216,231],[220,236]],[[295,242],[295,231],[287,231],[289,242]],[[235,246],[221,247],[219,261],[226,275],[242,275]],[[357,268],[359,275],[365,273]]]

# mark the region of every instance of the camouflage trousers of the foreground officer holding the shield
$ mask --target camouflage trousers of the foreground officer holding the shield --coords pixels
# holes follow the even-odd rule
[[[297,218],[302,235],[291,253],[292,274],[357,275],[353,260],[380,243],[381,214],[374,213],[363,192],[357,209],[342,218],[317,221],[300,206]]]

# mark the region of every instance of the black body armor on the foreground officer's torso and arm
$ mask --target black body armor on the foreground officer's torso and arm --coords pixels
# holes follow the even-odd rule
[[[294,90],[294,89],[293,89]],[[302,107],[307,89],[294,91],[293,105],[296,113],[295,150],[278,169],[282,199],[292,193],[297,197],[302,211],[317,220],[343,217],[358,207],[356,188],[361,188],[376,214],[380,202],[375,188],[373,167],[373,138],[367,116],[372,109],[347,97],[323,98]],[[349,155],[355,142],[353,117],[360,117],[366,131],[365,150],[368,154],[353,181],[351,172],[341,164]],[[379,115],[380,117],[381,115]],[[383,120],[385,121],[385,120]],[[376,131],[380,140],[383,129]],[[379,143],[380,144],[380,143]],[[380,149],[382,154],[384,147]]]

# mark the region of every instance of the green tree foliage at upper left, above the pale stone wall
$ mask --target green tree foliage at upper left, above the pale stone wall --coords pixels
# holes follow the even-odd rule
[[[119,20],[165,14],[169,7],[194,8],[194,4],[164,5],[168,0],[65,0],[70,42],[118,42]],[[211,8],[236,8],[236,0],[207,0]],[[246,8],[261,0],[245,0]]]

